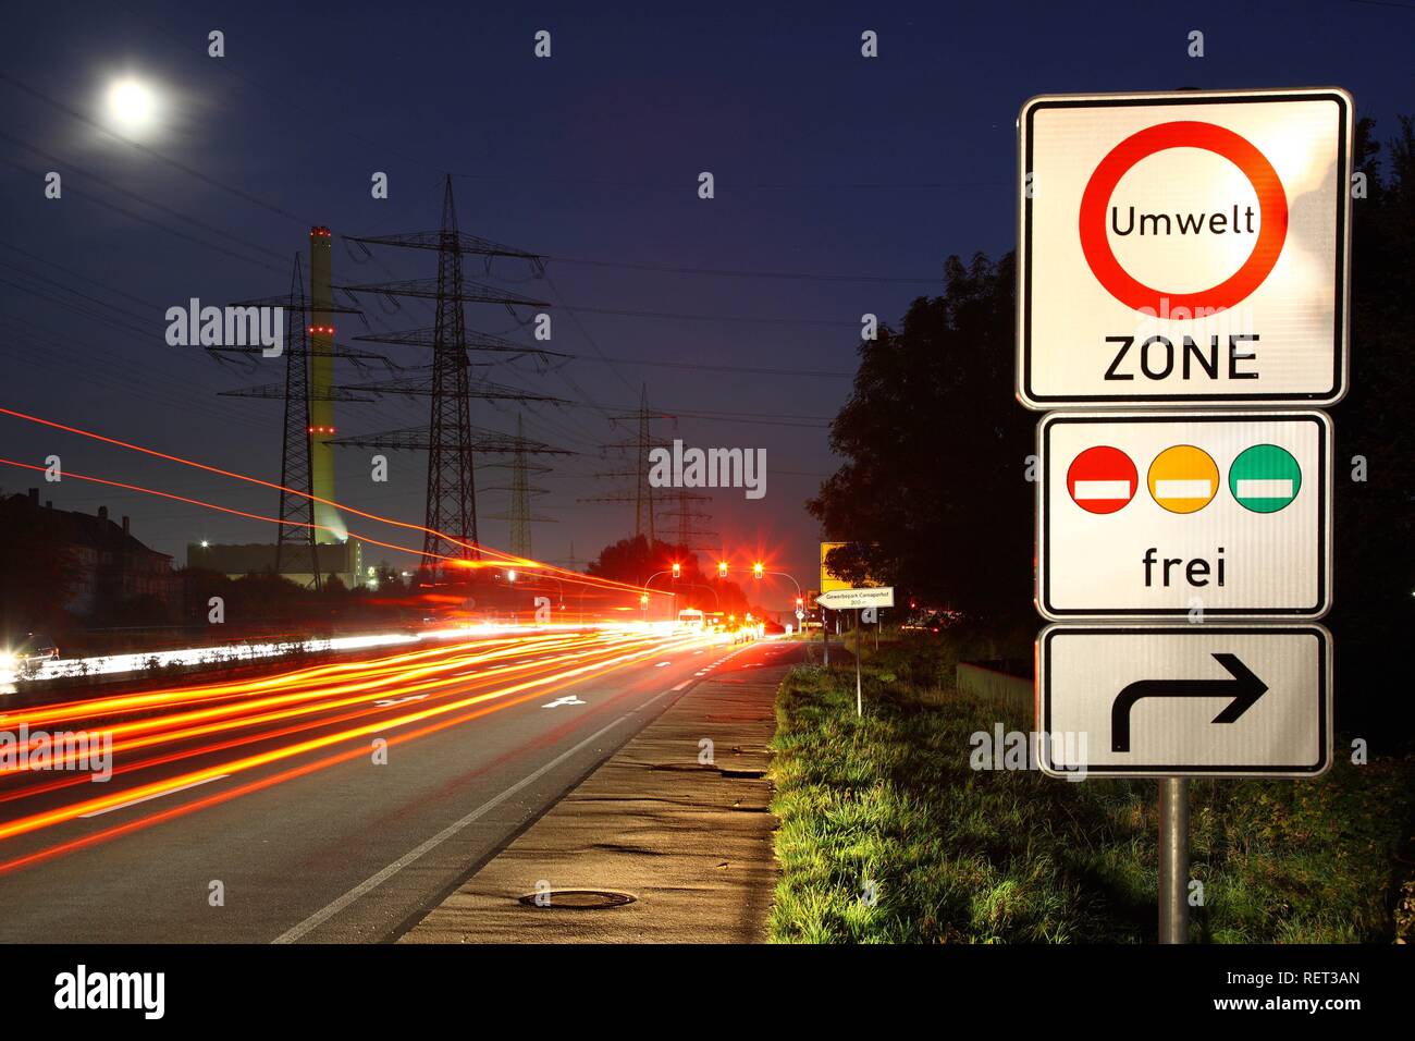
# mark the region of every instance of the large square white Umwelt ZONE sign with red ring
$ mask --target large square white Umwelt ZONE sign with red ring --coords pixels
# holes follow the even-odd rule
[[[1023,105],[1022,404],[1340,399],[1351,113],[1339,89]]]

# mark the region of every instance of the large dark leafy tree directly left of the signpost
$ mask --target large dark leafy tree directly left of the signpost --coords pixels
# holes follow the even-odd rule
[[[862,343],[831,423],[846,463],[807,503],[831,567],[959,609],[1016,615],[1032,593],[1026,480],[1036,416],[1013,397],[1015,261],[949,256],[944,293]]]

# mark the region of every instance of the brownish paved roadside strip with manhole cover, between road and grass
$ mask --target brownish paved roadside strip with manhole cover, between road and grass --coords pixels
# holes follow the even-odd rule
[[[798,659],[781,643],[719,666],[399,942],[764,942],[777,881],[767,745]],[[546,891],[549,906],[521,901]],[[570,904],[593,898],[565,891],[634,901],[586,909]]]

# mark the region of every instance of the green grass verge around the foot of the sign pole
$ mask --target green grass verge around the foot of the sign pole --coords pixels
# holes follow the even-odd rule
[[[867,647],[792,670],[777,700],[773,812],[782,874],[771,939],[805,943],[1150,942],[1155,782],[969,768],[978,731],[1030,718],[959,695],[959,639]],[[1337,765],[1317,780],[1191,785],[1196,942],[1409,938],[1415,761]],[[869,899],[869,887],[873,897]],[[1398,925],[1399,922],[1399,925]]]

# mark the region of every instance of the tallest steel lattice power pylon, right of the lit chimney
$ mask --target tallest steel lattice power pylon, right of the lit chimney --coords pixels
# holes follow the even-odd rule
[[[514,307],[548,307],[535,300],[497,286],[468,282],[463,278],[463,258],[481,256],[490,269],[494,258],[529,261],[536,273],[543,273],[543,258],[524,249],[466,235],[457,228],[457,207],[453,200],[451,176],[443,186],[441,225],[439,231],[406,235],[376,235],[352,238],[361,245],[386,245],[437,252],[437,278],[388,282],[379,285],[344,286],[351,293],[379,293],[388,297],[408,296],[434,302],[436,319],[430,330],[403,333],[400,343],[429,343],[433,350],[430,374],[426,378],[403,380],[395,384],[365,385],[358,389],[389,394],[426,395],[430,418],[426,432],[427,446],[427,504],[423,525],[423,571],[429,582],[446,574],[444,558],[473,559],[478,557],[477,542],[477,479],[471,426],[471,399],[497,398],[511,401],[558,401],[536,397],[509,387],[473,380],[467,351],[495,348],[478,343],[481,334],[468,339],[463,306],[467,303],[499,303],[515,314]],[[522,348],[522,353],[532,353]],[[355,389],[355,388],[350,388]],[[408,433],[408,432],[400,432]]]

